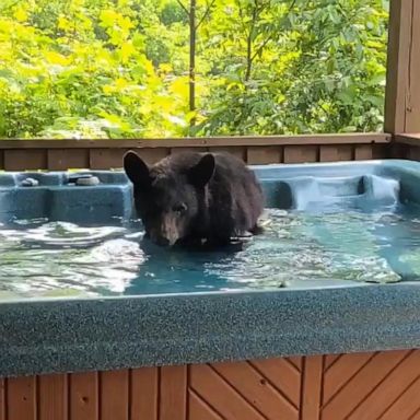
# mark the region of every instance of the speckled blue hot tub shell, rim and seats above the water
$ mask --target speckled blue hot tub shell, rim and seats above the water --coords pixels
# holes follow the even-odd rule
[[[328,194],[332,178],[345,177],[346,194],[366,199],[375,175],[395,179],[401,201],[420,203],[417,162],[254,168],[268,202],[282,208],[295,203],[293,183],[322,178]],[[94,174],[101,186],[68,186],[62,173],[0,174],[0,221],[128,218],[131,187],[125,175]],[[39,186],[21,187],[26,176]],[[0,303],[0,376],[419,346],[417,282]]]

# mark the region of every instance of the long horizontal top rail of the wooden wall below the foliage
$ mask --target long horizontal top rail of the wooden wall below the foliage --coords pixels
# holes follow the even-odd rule
[[[206,148],[232,145],[365,144],[388,143],[390,135],[347,133],[304,136],[244,136],[139,140],[0,140],[0,149]]]

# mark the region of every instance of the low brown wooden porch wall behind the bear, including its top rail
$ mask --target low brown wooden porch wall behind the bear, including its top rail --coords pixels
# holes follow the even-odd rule
[[[135,149],[149,163],[186,150],[226,151],[248,164],[354,161],[388,158],[384,133],[220,137],[161,140],[0,140],[0,170],[109,170]]]

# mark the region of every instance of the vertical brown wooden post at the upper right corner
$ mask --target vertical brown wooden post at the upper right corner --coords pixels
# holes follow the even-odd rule
[[[420,131],[420,2],[392,0],[385,132]]]

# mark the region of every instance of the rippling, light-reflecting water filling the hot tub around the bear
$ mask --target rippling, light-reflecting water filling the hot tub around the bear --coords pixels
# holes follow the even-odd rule
[[[242,250],[166,250],[139,222],[0,225],[0,299],[174,293],[416,280],[416,209],[328,213],[268,210],[266,232]]]

